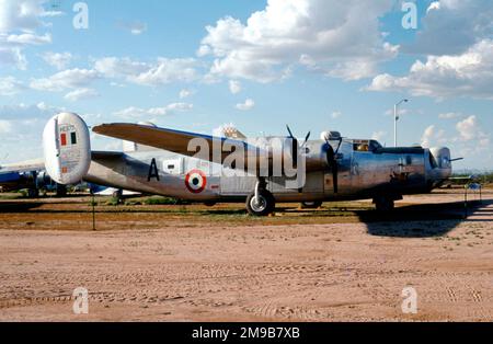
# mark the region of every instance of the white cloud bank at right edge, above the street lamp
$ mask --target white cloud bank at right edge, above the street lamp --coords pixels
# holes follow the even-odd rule
[[[413,95],[452,98],[469,95],[493,100],[493,41],[484,39],[456,56],[428,56],[416,61],[408,76],[377,76],[370,91],[409,91]]]

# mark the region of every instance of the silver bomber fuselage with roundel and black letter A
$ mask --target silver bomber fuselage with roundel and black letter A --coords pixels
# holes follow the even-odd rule
[[[309,141],[307,156],[324,159],[324,142]],[[363,147],[363,149],[362,149]],[[442,156],[439,156],[442,154]],[[331,168],[307,173],[305,186],[286,187],[287,177],[266,177],[276,202],[366,199],[428,193],[450,176],[448,150],[387,149],[371,140],[344,140],[337,152],[337,190]],[[225,176],[221,164],[146,149],[123,154],[93,154],[84,181],[193,202],[244,202],[255,188],[255,175]]]

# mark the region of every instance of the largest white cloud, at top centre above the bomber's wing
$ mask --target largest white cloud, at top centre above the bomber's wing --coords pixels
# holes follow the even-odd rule
[[[379,31],[379,18],[391,5],[390,0],[268,0],[245,24],[227,16],[207,26],[197,54],[213,55],[211,73],[232,79],[279,80],[300,61],[331,77],[360,79],[397,54]]]

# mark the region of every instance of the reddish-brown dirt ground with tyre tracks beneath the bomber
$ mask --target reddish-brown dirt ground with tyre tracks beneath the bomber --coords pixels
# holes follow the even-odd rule
[[[0,321],[492,321],[493,191],[318,210],[0,200]],[[477,196],[472,197],[477,199]],[[76,288],[89,314],[72,311]],[[404,314],[402,290],[417,293]]]

